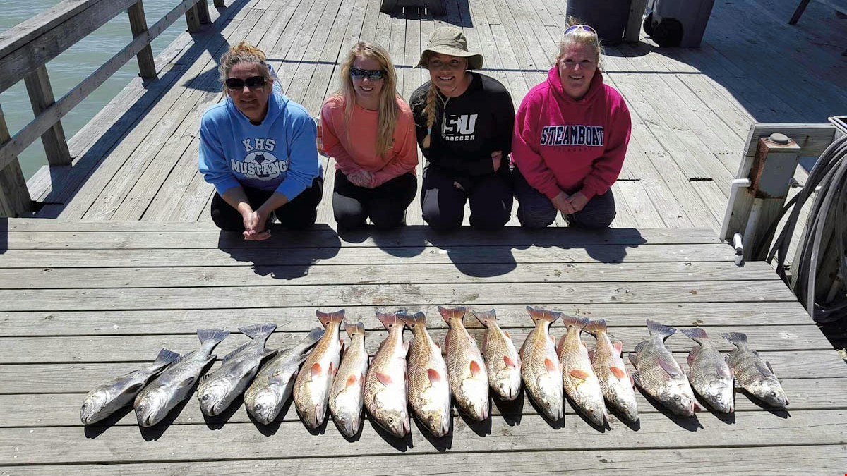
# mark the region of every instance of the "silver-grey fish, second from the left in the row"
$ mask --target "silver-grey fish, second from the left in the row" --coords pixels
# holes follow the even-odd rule
[[[194,384],[197,383],[203,369],[213,363],[216,358],[212,351],[221,340],[226,339],[227,335],[230,335],[229,330],[198,330],[200,348],[170,364],[136,396],[138,424],[150,427],[161,422],[172,408],[191,395],[191,390],[194,389]]]

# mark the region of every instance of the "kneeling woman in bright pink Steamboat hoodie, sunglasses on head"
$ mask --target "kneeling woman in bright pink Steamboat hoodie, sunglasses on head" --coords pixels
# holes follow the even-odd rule
[[[524,227],[543,228],[556,212],[591,229],[615,218],[609,187],[623,166],[631,120],[620,93],[603,83],[601,51],[593,28],[569,26],[547,80],[518,108],[512,160]]]

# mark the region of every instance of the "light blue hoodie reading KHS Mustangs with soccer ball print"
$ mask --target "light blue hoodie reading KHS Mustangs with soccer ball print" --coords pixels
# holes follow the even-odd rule
[[[246,185],[278,191],[291,201],[321,174],[316,136],[306,108],[274,82],[260,125],[251,124],[229,96],[203,113],[199,169],[221,196]]]

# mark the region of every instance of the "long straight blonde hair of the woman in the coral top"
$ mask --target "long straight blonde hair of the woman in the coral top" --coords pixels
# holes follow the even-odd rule
[[[353,88],[350,69],[357,58],[373,59],[385,71],[382,89],[379,91],[376,125],[376,151],[380,156],[385,156],[393,146],[394,130],[400,115],[400,107],[397,105],[397,73],[388,52],[378,43],[358,42],[350,48],[347,58],[341,63],[340,90],[335,92],[335,96],[344,97],[344,115],[348,123],[352,121],[353,108],[356,107],[356,90]]]

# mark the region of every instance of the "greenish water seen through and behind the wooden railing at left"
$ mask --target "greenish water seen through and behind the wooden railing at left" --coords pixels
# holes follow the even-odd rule
[[[0,0],[0,31],[8,30],[14,25],[40,14],[58,0]],[[171,9],[180,3],[179,0],[144,0],[144,11],[147,25],[153,25]],[[162,32],[152,44],[153,56],[161,53],[165,47],[185,31],[185,19],[177,19],[174,25]],[[47,63],[47,73],[53,86],[56,100],[85,80],[97,68],[106,63],[109,58],[123,49],[132,41],[130,21],[126,14],[119,14],[100,29],[86,36],[74,47],[60,54]],[[138,63],[135,58],[112,75],[97,91],[91,93],[85,101],[74,108],[62,119],[64,134],[70,139],[88,123],[100,109],[138,75]],[[24,81],[0,93],[0,106],[6,116],[9,132],[14,134],[34,118],[30,99],[26,93]],[[29,179],[42,165],[47,164],[42,142],[35,141],[19,157],[24,175]]]

